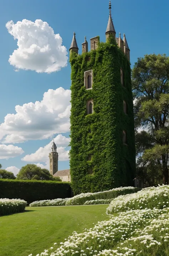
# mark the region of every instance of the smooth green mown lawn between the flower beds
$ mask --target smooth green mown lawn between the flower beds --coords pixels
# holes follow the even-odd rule
[[[55,242],[64,242],[73,231],[82,232],[98,221],[109,219],[107,207],[26,207],[26,212],[1,216],[0,256],[41,253]]]

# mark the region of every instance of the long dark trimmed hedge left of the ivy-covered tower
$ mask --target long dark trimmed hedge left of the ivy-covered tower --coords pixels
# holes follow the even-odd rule
[[[68,182],[0,179],[0,198],[23,199],[30,204],[34,201],[70,196]]]

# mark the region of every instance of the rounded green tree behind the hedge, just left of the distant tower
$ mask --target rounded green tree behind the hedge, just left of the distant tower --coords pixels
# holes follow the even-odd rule
[[[35,164],[27,164],[23,166],[16,179],[18,180],[55,180],[47,169],[42,169]]]

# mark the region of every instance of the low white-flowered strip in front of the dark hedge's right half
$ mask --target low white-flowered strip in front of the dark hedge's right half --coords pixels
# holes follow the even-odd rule
[[[53,200],[41,200],[41,201],[35,201],[31,203],[30,207],[37,207],[37,206],[62,206],[66,204],[66,201],[68,198],[65,199],[53,199]]]

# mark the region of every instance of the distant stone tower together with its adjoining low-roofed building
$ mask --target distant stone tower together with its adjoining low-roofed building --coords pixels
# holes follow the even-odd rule
[[[49,153],[49,162],[50,162],[50,174],[53,177],[60,177],[62,181],[71,181],[70,170],[58,171],[58,153],[57,147],[53,139],[52,152]]]

